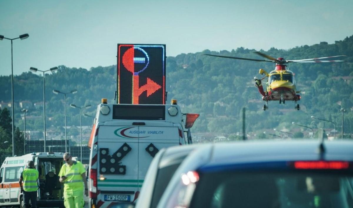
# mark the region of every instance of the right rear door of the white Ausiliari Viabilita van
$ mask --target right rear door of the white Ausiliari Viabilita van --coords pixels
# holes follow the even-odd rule
[[[140,126],[138,144],[139,182],[143,182],[155,154],[162,148],[179,145],[179,142],[178,127]],[[139,187],[141,185],[142,183],[139,183]]]

